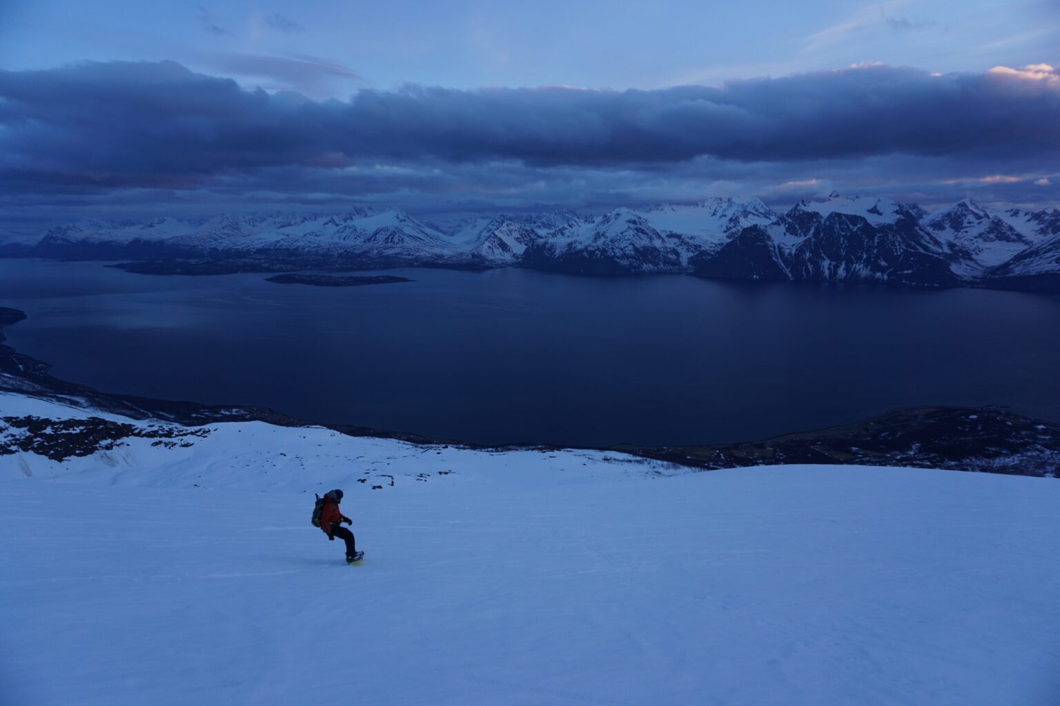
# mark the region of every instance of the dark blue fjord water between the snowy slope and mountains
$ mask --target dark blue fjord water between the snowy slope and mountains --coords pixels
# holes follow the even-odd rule
[[[70,381],[469,441],[735,441],[913,404],[1060,419],[1057,296],[385,274],[416,282],[0,259],[0,306],[30,314],[8,342]]]

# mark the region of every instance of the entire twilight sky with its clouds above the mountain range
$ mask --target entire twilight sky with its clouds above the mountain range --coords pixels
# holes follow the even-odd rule
[[[0,206],[1056,205],[1057,67],[1060,0],[0,0]]]

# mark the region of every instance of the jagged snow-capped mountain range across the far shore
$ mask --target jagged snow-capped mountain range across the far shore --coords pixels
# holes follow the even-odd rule
[[[965,200],[928,213],[888,198],[833,193],[782,214],[758,199],[712,198],[599,216],[563,211],[454,223],[371,209],[194,221],[92,219],[36,236],[0,232],[0,254],[202,259],[262,270],[526,267],[1060,290],[1058,235],[1058,209],[999,210]]]

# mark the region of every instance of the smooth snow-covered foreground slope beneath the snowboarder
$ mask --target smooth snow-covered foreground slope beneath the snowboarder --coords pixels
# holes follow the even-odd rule
[[[90,416],[0,396],[25,415],[57,420],[37,430],[53,450]],[[0,456],[5,703],[1060,694],[1053,479],[109,421],[155,436]],[[363,564],[310,525],[333,487]]]

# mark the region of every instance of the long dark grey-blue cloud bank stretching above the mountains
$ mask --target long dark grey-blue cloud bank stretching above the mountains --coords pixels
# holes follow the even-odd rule
[[[765,185],[867,163],[889,170],[881,183],[922,179],[902,174],[916,163],[951,185],[1029,175],[1020,188],[1040,194],[1058,157],[1060,71],[1045,65],[866,66],[653,91],[410,86],[344,102],[246,90],[170,61],[0,72],[0,196],[15,204],[241,184],[356,196],[366,165],[385,167],[373,179],[392,192],[450,195],[488,194],[497,164],[508,188],[522,173],[569,192],[579,174],[584,189],[614,194],[615,175],[626,175],[619,191],[637,179]]]

